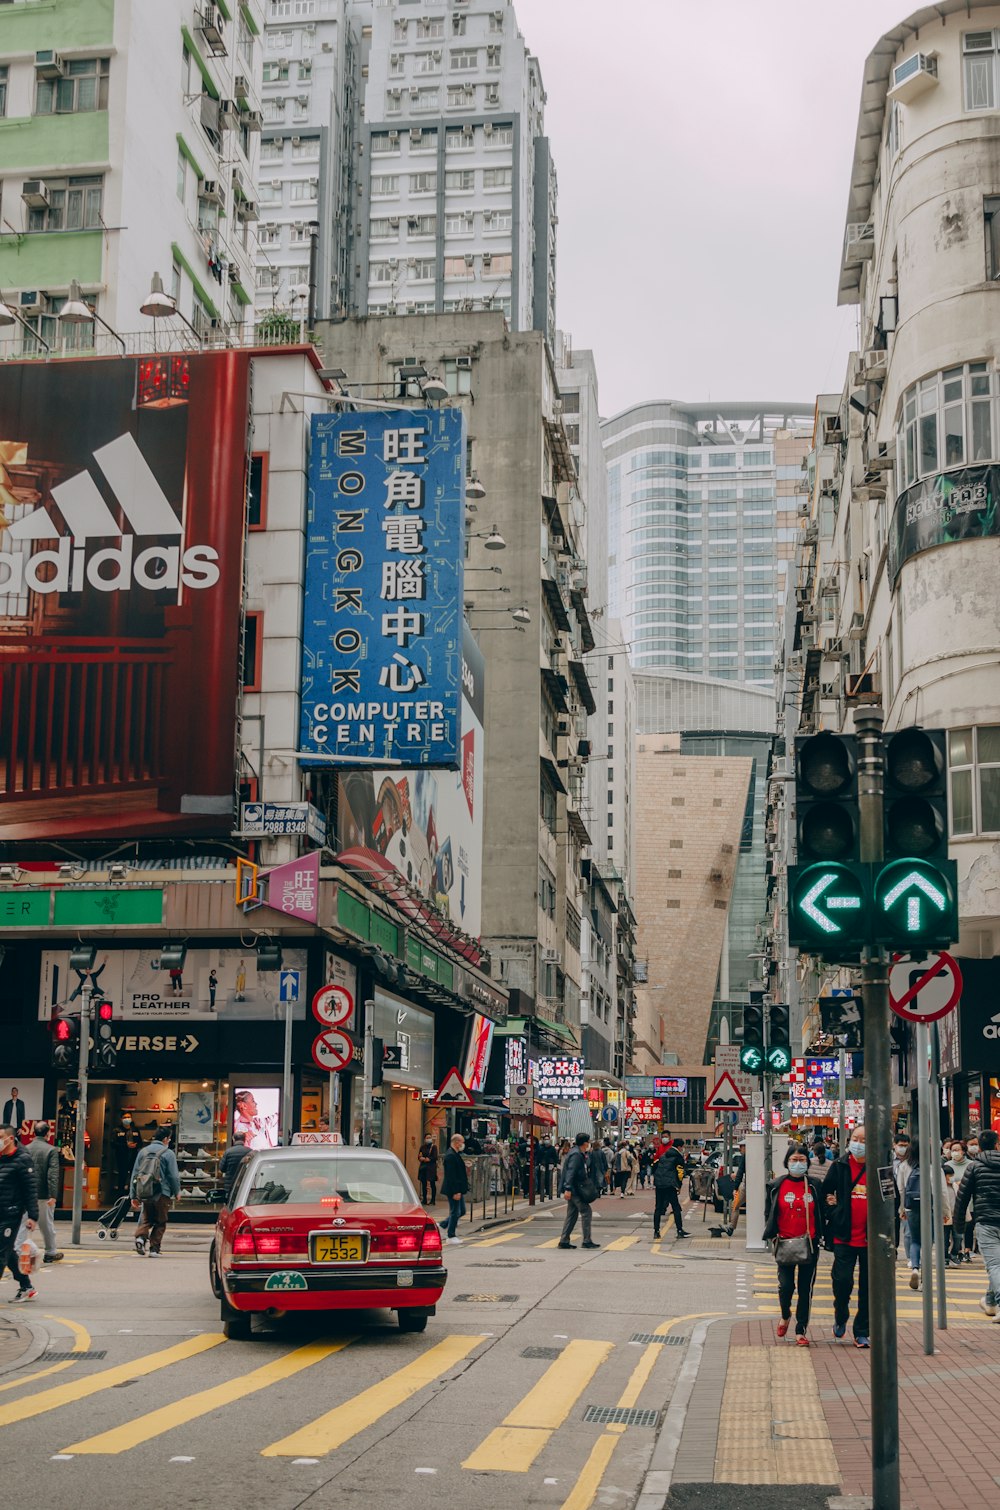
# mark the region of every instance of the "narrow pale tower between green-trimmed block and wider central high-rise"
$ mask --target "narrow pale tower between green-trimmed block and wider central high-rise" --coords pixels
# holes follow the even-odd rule
[[[311,325],[346,311],[367,12],[350,0],[267,0],[258,319],[281,311]]]

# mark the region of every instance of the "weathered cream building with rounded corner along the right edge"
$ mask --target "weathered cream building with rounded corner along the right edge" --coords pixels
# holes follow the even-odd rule
[[[840,266],[860,349],[817,406],[793,619],[798,729],[947,731],[964,972],[941,1066],[956,1132],[1000,1114],[1000,6],[943,0],[864,68]],[[811,965],[799,974],[813,983]],[[829,974],[822,989],[829,988]],[[912,1045],[897,1099],[915,1083]]]

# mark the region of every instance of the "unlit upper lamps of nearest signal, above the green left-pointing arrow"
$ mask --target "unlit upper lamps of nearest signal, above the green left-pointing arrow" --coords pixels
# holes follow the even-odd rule
[[[861,858],[853,734],[807,734],[795,741],[795,811],[799,865]]]

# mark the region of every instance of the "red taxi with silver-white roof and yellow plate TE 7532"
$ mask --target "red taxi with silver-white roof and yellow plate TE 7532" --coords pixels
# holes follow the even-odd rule
[[[447,1271],[441,1231],[385,1149],[292,1146],[252,1154],[219,1214],[210,1255],[222,1330],[252,1312],[387,1308],[423,1332]]]

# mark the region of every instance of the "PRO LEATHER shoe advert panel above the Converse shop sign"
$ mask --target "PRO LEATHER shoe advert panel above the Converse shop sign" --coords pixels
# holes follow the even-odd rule
[[[156,969],[159,950],[100,950],[92,983],[109,1001],[116,1016],[178,1018],[184,1021],[284,1021],[287,1007],[279,1001],[279,971],[257,971],[252,948],[189,948],[180,974]],[[301,971],[305,980],[304,948],[282,951],[285,969]],[[42,950],[38,992],[39,1021],[48,1022],[51,1009],[79,1001],[82,978],[69,968],[66,950]],[[305,992],[292,1004],[293,1018],[305,1018]]]

